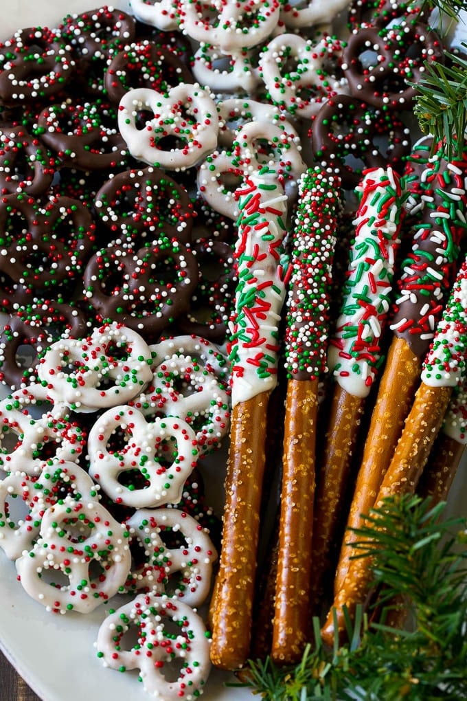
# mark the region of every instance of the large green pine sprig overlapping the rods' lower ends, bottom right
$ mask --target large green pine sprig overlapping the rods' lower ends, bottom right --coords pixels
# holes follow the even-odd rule
[[[443,506],[405,495],[372,512],[357,531],[356,557],[372,558],[379,618],[359,606],[347,620],[349,642],[336,636],[331,650],[314,620],[315,641],[299,665],[250,662],[246,686],[270,701],[467,698],[467,522],[440,522]],[[410,630],[385,625],[401,600]]]

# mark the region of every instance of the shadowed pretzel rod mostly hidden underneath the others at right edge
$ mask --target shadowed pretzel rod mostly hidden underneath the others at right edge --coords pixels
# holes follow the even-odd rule
[[[421,475],[418,493],[434,502],[445,501],[467,444],[467,383],[456,387],[442,430]]]

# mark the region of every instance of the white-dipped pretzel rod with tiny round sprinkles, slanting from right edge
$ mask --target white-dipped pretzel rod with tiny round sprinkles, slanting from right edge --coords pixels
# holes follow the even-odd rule
[[[435,437],[442,427],[454,386],[466,377],[467,358],[467,258],[456,278],[449,301],[437,327],[435,339],[421,372],[421,384],[415,395],[405,428],[398,441],[388,470],[375,499],[375,508],[384,499],[413,493],[417,487]],[[371,558],[352,559],[344,584],[337,592],[321,634],[333,644],[335,620],[337,632],[345,631],[343,607],[354,615],[356,604],[363,601],[371,580]]]

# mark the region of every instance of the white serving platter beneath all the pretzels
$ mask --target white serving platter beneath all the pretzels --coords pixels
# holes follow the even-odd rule
[[[0,0],[0,39],[11,36],[20,27],[54,27],[67,13],[97,6],[99,3],[93,4],[92,0]],[[113,6],[128,8],[125,0],[114,2]],[[459,39],[455,43],[460,43]],[[467,512],[466,463],[463,460],[456,476],[447,515]],[[210,488],[220,494],[222,471],[212,470],[212,478]],[[3,551],[0,551],[0,601],[0,648],[43,701],[146,701],[149,698],[138,683],[137,674],[105,669],[97,659],[94,643],[106,607],[97,608],[89,615],[47,613],[22,590],[16,581],[15,566]],[[235,681],[233,676],[214,670],[203,698],[206,701],[253,698],[249,690],[226,686],[232,681]],[[1,679],[0,698],[15,701],[1,695]]]

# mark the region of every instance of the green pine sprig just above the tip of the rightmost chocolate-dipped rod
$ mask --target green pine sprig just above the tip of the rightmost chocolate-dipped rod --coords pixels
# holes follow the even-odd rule
[[[461,158],[467,128],[467,60],[445,54],[452,62],[425,62],[424,77],[415,86],[414,112],[422,132],[432,134],[435,142],[444,142],[447,160],[453,154]]]

